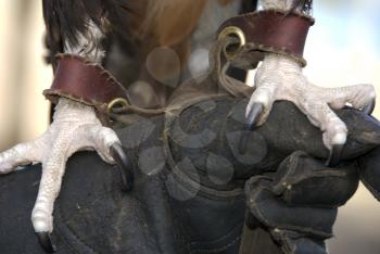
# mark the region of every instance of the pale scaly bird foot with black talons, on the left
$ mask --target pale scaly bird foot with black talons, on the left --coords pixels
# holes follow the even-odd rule
[[[61,190],[67,158],[77,151],[94,150],[110,164],[118,164],[123,189],[131,188],[131,172],[116,134],[103,127],[91,106],[60,99],[54,122],[48,130],[31,142],[17,144],[0,154],[0,174],[16,166],[42,163],[42,177],[31,223],[41,246],[47,252],[54,247],[50,239],[53,231],[53,206]]]

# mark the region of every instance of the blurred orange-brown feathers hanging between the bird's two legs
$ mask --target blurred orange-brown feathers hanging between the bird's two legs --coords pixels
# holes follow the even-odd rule
[[[131,35],[139,43],[141,61],[156,47],[176,51],[183,66],[190,51],[190,36],[195,29],[207,0],[128,1]]]

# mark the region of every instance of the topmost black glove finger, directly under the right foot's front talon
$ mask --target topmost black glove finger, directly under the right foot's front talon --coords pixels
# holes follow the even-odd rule
[[[342,160],[353,160],[380,144],[380,123],[373,117],[353,109],[343,109],[335,113],[349,130]],[[301,150],[319,158],[327,158],[329,155],[322,142],[322,132],[292,103],[275,103],[267,122],[257,131],[265,137],[271,151],[290,154]]]

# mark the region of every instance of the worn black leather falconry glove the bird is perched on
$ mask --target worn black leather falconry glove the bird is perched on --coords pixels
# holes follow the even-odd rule
[[[291,103],[276,103],[267,123],[255,131],[244,130],[246,100],[223,97],[200,103],[204,101],[166,118],[135,119],[117,130],[135,167],[130,193],[121,193],[116,168],[94,154],[69,160],[54,211],[58,253],[238,253],[245,198],[253,196],[250,191],[244,196],[243,189],[252,177],[258,180],[248,181],[248,190],[259,190],[252,194],[259,193],[256,200],[266,211],[258,216],[249,203],[258,224],[278,241],[286,239],[284,250],[293,250],[294,244],[317,250],[331,236],[337,207],[356,190],[355,162],[362,165],[367,185],[379,190],[378,178],[363,174],[377,174],[379,153],[373,149],[380,143],[380,127],[360,112],[339,113],[347,124],[349,140],[342,163],[327,168],[328,150],[319,129]],[[202,136],[203,130],[210,131]],[[246,151],[239,148],[242,135],[250,141]],[[39,166],[33,166],[0,178],[4,253],[41,253],[28,215],[39,175]],[[315,220],[312,215],[319,212]],[[294,213],[299,217],[292,217]],[[297,228],[288,227],[292,225]],[[313,231],[305,233],[304,228]]]

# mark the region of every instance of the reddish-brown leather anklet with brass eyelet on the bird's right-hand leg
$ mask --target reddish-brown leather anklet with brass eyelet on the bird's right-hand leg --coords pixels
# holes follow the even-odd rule
[[[289,55],[305,66],[303,51],[307,31],[312,25],[314,25],[314,18],[311,16],[265,10],[227,20],[219,27],[218,35],[227,27],[240,29],[245,39],[242,48],[256,51],[254,62],[264,58],[263,52],[274,52]],[[253,66],[256,64],[251,63]]]

